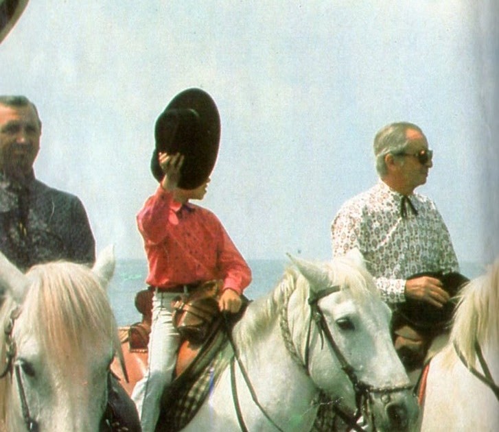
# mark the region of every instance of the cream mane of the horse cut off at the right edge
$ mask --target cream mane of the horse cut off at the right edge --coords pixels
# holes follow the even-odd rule
[[[450,347],[456,343],[469,364],[475,363],[475,341],[499,346],[499,259],[487,274],[470,281],[459,293]],[[453,348],[450,348],[451,352]]]

